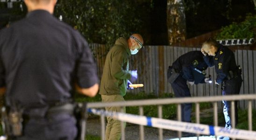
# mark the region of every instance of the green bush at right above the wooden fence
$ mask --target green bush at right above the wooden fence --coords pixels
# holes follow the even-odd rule
[[[221,28],[217,39],[244,39],[254,38],[256,35],[256,15],[249,14],[241,23],[233,22],[229,26]]]

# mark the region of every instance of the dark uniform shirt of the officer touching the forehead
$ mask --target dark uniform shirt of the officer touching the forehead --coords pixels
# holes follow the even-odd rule
[[[217,73],[216,82],[221,84],[227,79],[228,71],[237,70],[237,65],[235,63],[235,55],[232,50],[228,49],[228,47],[219,44],[215,54],[215,56],[206,55],[204,59],[209,67],[215,66],[215,71]]]

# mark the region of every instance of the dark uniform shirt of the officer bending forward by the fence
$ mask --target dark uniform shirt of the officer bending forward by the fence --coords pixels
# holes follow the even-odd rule
[[[194,50],[179,56],[178,59],[172,63],[172,68],[183,75],[186,80],[193,82],[195,78],[197,78],[193,76],[194,68],[203,71],[206,70],[208,66],[204,61],[201,51]]]

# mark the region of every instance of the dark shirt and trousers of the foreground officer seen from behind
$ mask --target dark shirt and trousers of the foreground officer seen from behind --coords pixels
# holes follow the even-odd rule
[[[73,83],[98,83],[96,64],[85,39],[44,10],[0,31],[0,87],[6,103],[29,117],[21,140],[74,140],[76,119],[68,112],[48,114],[72,98]]]

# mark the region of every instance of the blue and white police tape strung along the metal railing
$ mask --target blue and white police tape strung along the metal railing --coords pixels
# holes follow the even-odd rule
[[[256,140],[255,131],[233,129],[233,128],[230,130],[227,130],[225,127],[180,122],[175,120],[146,117],[146,116],[140,116],[140,115],[134,115],[134,114],[128,114],[128,113],[121,113],[121,112],[107,112],[103,109],[98,110],[98,109],[89,108],[88,112],[91,112],[96,115],[104,115],[104,116],[112,117],[114,119],[118,119],[123,122],[128,122],[128,123],[133,123],[133,124],[138,124],[143,126],[151,126],[151,127],[189,132],[189,133],[205,134],[205,135],[216,135],[216,136],[221,135],[221,136],[228,136],[230,138],[243,139],[243,140]]]

